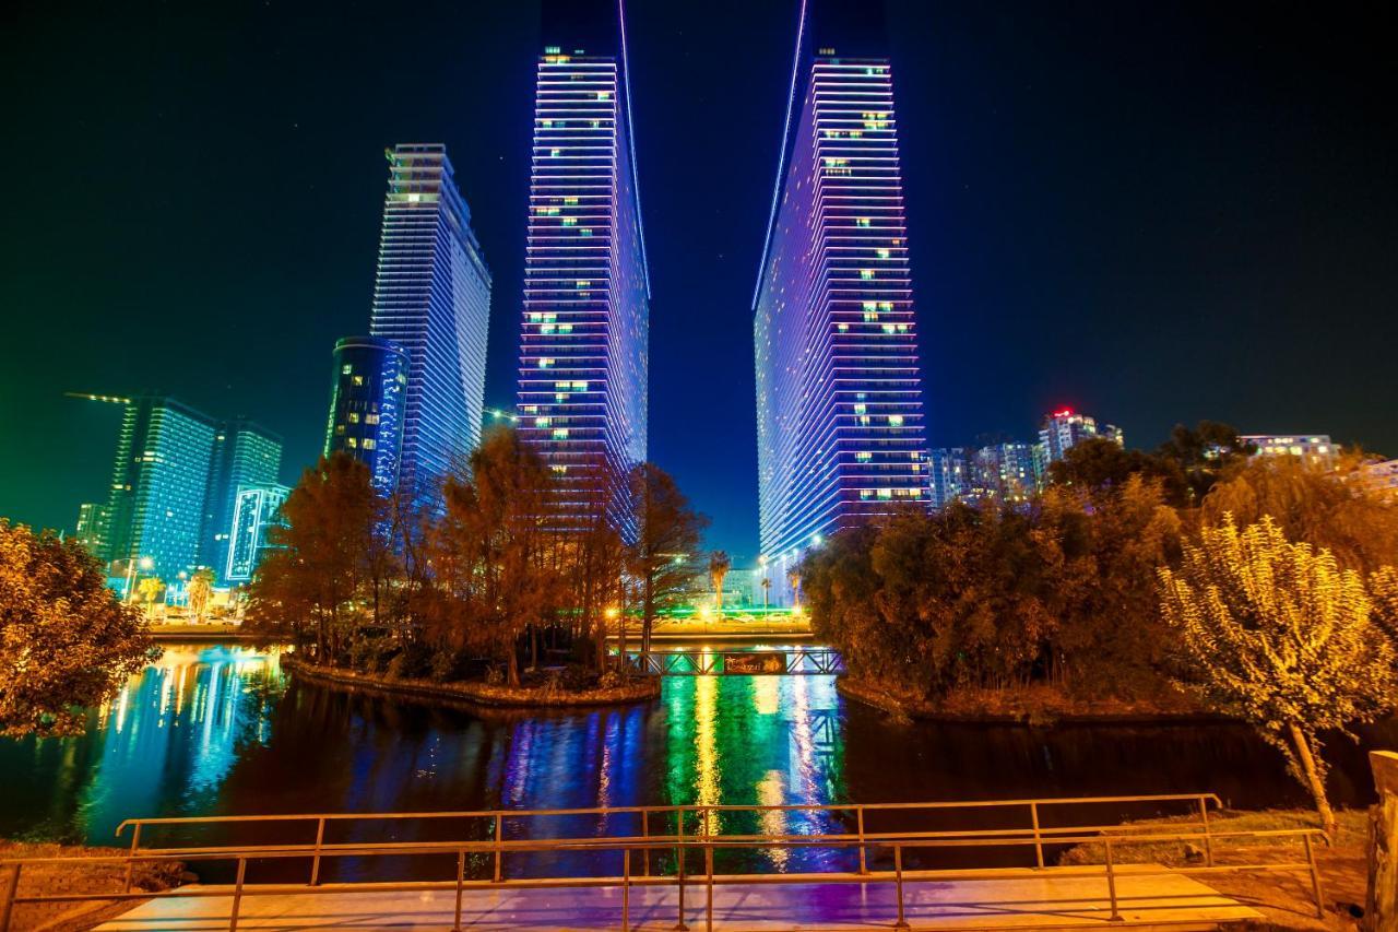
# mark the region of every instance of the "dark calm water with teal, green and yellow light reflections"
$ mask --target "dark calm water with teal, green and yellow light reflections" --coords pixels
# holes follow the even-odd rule
[[[1398,725],[1369,729],[1362,739],[1331,743],[1331,786],[1339,803],[1369,802],[1363,750],[1398,746]],[[110,705],[91,712],[81,737],[0,740],[0,835],[98,844],[110,844],[117,823],[131,816],[1199,791],[1247,807],[1306,802],[1272,749],[1227,725],[898,725],[846,702],[833,677],[795,676],[675,677],[665,682],[660,701],[644,705],[474,714],[292,683],[275,651],[219,645],[171,647]],[[1131,814],[1145,813],[1093,813]],[[759,827],[756,816],[721,817],[728,820],[724,828]],[[981,813],[976,824],[993,817]],[[761,819],[766,831],[800,833],[837,816]],[[965,813],[945,819],[925,826],[970,827]],[[570,817],[535,826],[533,835],[598,828],[594,817]],[[344,840],[440,831],[460,837],[461,826],[404,823],[389,834],[365,827]],[[179,840],[253,838],[218,827]],[[844,855],[741,856],[791,868]],[[397,873],[382,863],[341,863],[329,876]],[[514,872],[554,866],[534,858]]]

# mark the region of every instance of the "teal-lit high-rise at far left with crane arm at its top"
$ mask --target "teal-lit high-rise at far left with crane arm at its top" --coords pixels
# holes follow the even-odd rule
[[[173,582],[199,561],[218,424],[165,395],[124,403],[108,502],[109,560],[150,558]]]

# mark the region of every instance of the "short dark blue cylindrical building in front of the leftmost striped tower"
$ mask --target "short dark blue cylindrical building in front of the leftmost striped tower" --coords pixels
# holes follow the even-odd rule
[[[408,369],[408,354],[393,340],[336,343],[324,453],[344,452],[365,463],[384,495],[398,487]]]

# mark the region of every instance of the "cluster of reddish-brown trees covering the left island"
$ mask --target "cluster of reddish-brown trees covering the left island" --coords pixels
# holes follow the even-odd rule
[[[544,661],[596,677],[624,607],[649,630],[688,585],[705,523],[654,465],[596,479],[593,518],[575,511],[562,530],[559,474],[506,428],[447,477],[438,511],[376,494],[358,460],[323,459],[282,507],[249,626],[398,677],[519,684]]]

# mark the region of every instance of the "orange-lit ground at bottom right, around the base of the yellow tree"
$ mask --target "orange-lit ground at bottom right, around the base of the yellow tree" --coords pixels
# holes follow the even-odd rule
[[[1316,848],[1316,865],[1320,869],[1321,890],[1325,903],[1325,918],[1316,917],[1316,896],[1311,893],[1310,876],[1302,872],[1239,870],[1206,875],[1206,883],[1219,893],[1233,897],[1258,910],[1267,917],[1269,929],[1320,929],[1350,932],[1359,928],[1359,917],[1350,905],[1363,907],[1367,884],[1364,844],[1367,838],[1367,814],[1363,809],[1341,809],[1335,813],[1336,837],[1331,845]],[[1169,831],[1170,826],[1192,823],[1198,816],[1169,819],[1144,819],[1124,823],[1121,834],[1159,826]],[[1295,828],[1318,828],[1320,819],[1306,809],[1269,809],[1262,812],[1222,810],[1209,813],[1209,827],[1215,833],[1227,831],[1274,831]],[[1202,866],[1202,851],[1197,844],[1158,842],[1146,845],[1120,845],[1113,848],[1113,858],[1120,863],[1160,863],[1169,868]],[[1079,845],[1069,848],[1058,859],[1062,865],[1102,863],[1100,845]],[[1213,842],[1216,865],[1267,865],[1299,863],[1306,861],[1302,842],[1292,838],[1243,838],[1218,840]]]

